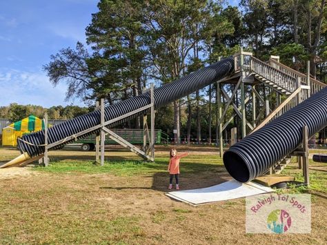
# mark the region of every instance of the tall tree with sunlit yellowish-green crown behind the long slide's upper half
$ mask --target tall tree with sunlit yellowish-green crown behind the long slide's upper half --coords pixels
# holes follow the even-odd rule
[[[166,83],[178,79],[190,51],[219,29],[215,17],[221,5],[213,1],[148,1],[145,24],[152,78]],[[179,143],[179,102],[174,102],[175,139]]]

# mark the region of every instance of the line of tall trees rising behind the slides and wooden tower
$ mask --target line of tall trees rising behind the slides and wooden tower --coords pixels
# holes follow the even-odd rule
[[[54,85],[68,84],[67,99],[109,104],[139,95],[150,82],[169,83],[232,55],[240,46],[260,59],[281,62],[324,79],[324,0],[101,0],[86,27],[86,46],[63,48],[43,68]],[[215,85],[157,111],[157,126],[180,138],[214,138]],[[237,122],[235,122],[237,123]],[[139,128],[141,119],[128,126]],[[173,126],[171,126],[173,125]],[[163,129],[166,129],[163,128]]]

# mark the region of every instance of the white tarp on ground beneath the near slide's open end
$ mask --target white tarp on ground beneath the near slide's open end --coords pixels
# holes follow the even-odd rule
[[[224,201],[239,197],[249,197],[262,193],[274,192],[272,188],[262,186],[255,182],[241,183],[236,180],[230,180],[217,186],[200,188],[194,190],[178,190],[166,193],[168,197],[172,197],[181,202],[192,205],[205,204],[208,202]]]

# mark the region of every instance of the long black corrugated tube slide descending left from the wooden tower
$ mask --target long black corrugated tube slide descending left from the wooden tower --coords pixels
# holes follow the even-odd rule
[[[211,66],[198,70],[197,72],[193,72],[186,77],[173,81],[170,84],[156,88],[154,91],[155,108],[165,106],[172,101],[189,95],[198,89],[204,88],[205,86],[212,84],[226,75],[229,75],[233,69],[234,61],[232,57],[228,57],[212,64]],[[150,93],[146,92],[138,97],[133,97],[117,104],[106,106],[105,121],[115,119],[119,116],[125,115],[128,112],[132,112],[142,108],[143,106],[147,106],[148,104],[150,104]],[[139,115],[146,114],[149,111],[150,109],[146,112],[139,112],[139,114],[126,117],[125,119],[117,121],[114,124],[108,125],[108,128],[121,124],[124,121],[128,121]],[[97,126],[100,124],[100,121],[100,111],[95,110],[94,112],[90,112],[86,115],[81,115],[61,124],[54,125],[48,129],[48,144],[66,139],[71,135],[80,133],[83,130],[93,126]],[[90,132],[88,135],[96,133],[97,131],[99,130]],[[86,137],[86,135],[83,135],[82,137]],[[30,157],[35,157],[44,153],[44,146],[42,146],[44,144],[44,130],[37,133],[32,133],[30,135],[24,135],[21,139],[22,140],[17,140],[17,145],[21,153],[27,152]],[[61,148],[64,144],[68,144],[70,142],[71,141],[66,141],[65,143],[59,144],[52,149]]]

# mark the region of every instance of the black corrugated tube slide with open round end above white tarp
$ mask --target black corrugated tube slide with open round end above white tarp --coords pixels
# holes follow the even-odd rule
[[[232,145],[224,154],[228,173],[249,182],[292,153],[302,142],[302,127],[312,137],[327,126],[327,88]]]

